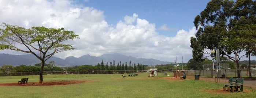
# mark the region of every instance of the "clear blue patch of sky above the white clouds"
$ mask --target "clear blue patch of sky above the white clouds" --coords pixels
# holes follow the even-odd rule
[[[210,0],[89,0],[84,6],[104,11],[105,20],[115,25],[126,15],[138,14],[156,25],[161,35],[175,36],[178,30],[189,30],[194,18],[204,10]],[[159,30],[165,26],[169,30]]]

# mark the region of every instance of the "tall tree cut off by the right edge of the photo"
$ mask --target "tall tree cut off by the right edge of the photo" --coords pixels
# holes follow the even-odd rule
[[[233,9],[235,26],[230,30],[229,38],[224,38],[223,43],[247,51],[246,57],[249,57],[250,63],[250,53],[256,53],[256,1],[237,0]],[[252,78],[250,70],[249,78]]]

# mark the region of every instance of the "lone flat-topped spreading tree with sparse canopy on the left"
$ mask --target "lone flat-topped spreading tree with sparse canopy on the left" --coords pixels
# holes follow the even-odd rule
[[[40,83],[43,83],[45,61],[55,53],[75,49],[71,44],[63,42],[78,38],[73,31],[66,31],[64,28],[31,27],[31,29],[25,29],[6,23],[1,26],[3,27],[0,27],[0,49],[34,54],[41,61]]]

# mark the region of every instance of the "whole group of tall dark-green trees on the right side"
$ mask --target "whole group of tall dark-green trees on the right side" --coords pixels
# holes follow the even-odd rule
[[[240,68],[238,61],[243,56],[250,61],[250,56],[256,54],[256,1],[209,1],[200,15],[195,17],[194,25],[198,31],[195,37],[190,38],[193,59],[188,63],[196,63],[197,69],[200,69],[205,57],[210,57],[210,50],[219,50],[220,60],[235,62],[237,69]],[[238,71],[238,77],[240,75]]]

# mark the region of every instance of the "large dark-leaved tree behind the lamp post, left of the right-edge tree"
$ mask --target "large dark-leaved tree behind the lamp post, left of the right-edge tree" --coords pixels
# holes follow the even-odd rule
[[[194,19],[194,25],[199,29],[196,38],[190,39],[193,51],[201,54],[207,53],[208,49],[219,49],[220,55],[233,60],[239,69],[238,61],[245,54],[240,54],[243,49],[227,42],[227,38],[237,38],[237,29],[235,28],[239,26],[238,22],[243,16],[250,16],[249,11],[245,9],[252,8],[252,3],[252,0],[237,0],[236,3],[229,0],[210,1],[200,15]],[[194,52],[193,56],[195,56]],[[241,76],[240,71],[237,74],[238,77]]]

